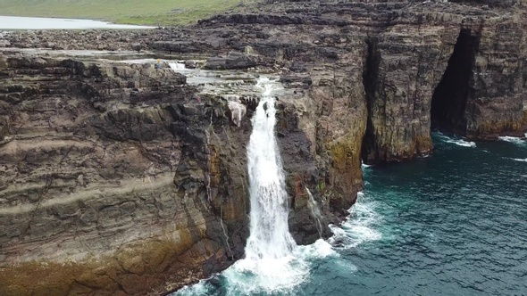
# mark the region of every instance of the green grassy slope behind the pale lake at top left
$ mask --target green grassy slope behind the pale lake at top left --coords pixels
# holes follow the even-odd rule
[[[188,24],[256,0],[0,0],[0,15]]]

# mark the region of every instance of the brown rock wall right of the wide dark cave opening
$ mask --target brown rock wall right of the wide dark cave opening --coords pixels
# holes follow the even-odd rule
[[[486,21],[475,56],[465,118],[466,136],[523,136],[527,97],[525,15]]]

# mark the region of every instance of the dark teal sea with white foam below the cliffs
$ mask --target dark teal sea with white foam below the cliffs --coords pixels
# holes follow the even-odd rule
[[[179,294],[527,295],[527,143],[433,140],[430,157],[364,168],[333,246],[297,251],[296,283],[249,292],[235,267]]]

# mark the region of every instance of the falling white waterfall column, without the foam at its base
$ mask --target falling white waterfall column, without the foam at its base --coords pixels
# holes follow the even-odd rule
[[[253,132],[247,146],[251,224],[246,258],[280,259],[289,256],[296,243],[289,234],[289,201],[274,132],[272,84],[262,78],[257,86],[263,88],[263,94],[251,119]]]

